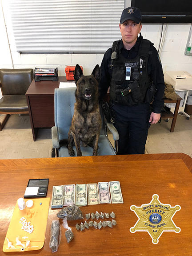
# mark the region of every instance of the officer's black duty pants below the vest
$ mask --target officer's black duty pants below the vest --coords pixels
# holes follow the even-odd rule
[[[150,127],[149,104],[111,104],[115,127],[119,132],[117,155],[144,154]]]

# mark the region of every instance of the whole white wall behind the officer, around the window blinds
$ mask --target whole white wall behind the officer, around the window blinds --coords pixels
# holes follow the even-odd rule
[[[59,76],[65,76],[64,70],[67,65],[80,64],[84,68],[84,74],[88,75],[96,64],[101,64],[103,54],[20,54],[16,51],[12,25],[6,7],[4,7],[4,16],[14,68],[58,67]],[[141,31],[144,38],[151,40],[156,48],[158,48],[160,42],[161,27],[162,24],[143,24]],[[184,55],[189,29],[190,24],[167,25],[166,37],[160,56],[164,72],[183,70],[192,74],[192,56]],[[1,6],[0,35],[0,68],[12,68]],[[111,45],[108,47],[111,47]]]

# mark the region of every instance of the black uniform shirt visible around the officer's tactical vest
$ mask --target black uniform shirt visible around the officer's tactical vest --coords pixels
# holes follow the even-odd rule
[[[128,60],[134,59],[139,52],[140,46],[140,37],[137,38],[136,44],[131,48],[131,50],[126,50],[123,45],[122,39],[120,40],[119,50],[121,54],[127,58]],[[157,92],[155,94],[154,101],[152,103],[153,112],[160,113],[164,104],[163,96],[164,96],[164,74],[162,65],[160,63],[160,58],[158,52],[154,46],[151,45],[150,51],[152,51],[152,55],[149,55],[148,58],[148,75],[151,76],[153,84],[157,88]],[[107,93],[108,88],[110,86],[110,81],[112,78],[112,69],[110,67],[111,64],[111,54],[112,48],[109,48],[107,52],[104,54],[104,58],[102,60],[100,69],[101,69],[101,80],[99,84],[99,92],[100,99],[104,97]]]

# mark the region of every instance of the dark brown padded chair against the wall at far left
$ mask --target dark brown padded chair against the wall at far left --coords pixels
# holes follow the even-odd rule
[[[5,114],[0,122],[3,129],[10,114],[28,113],[25,93],[33,80],[33,69],[0,69],[0,88],[3,97],[0,99],[0,114]]]

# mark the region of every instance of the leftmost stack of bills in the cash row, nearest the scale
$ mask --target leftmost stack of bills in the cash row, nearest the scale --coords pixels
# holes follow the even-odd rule
[[[51,208],[63,208],[64,185],[53,186]]]

